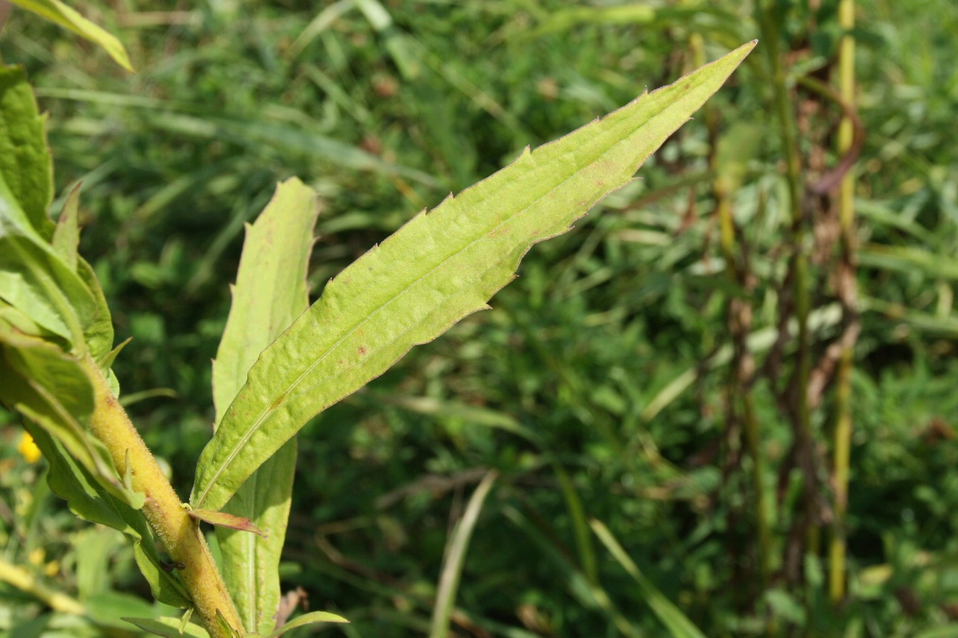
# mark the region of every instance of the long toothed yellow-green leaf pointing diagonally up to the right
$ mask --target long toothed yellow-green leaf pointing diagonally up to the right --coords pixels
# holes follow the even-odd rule
[[[632,101],[421,213],[327,285],[274,341],[200,456],[193,504],[222,507],[313,415],[432,341],[568,231],[715,93],[756,42]]]

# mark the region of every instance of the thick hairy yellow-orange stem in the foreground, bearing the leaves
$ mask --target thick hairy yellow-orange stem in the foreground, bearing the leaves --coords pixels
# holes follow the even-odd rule
[[[193,597],[194,611],[211,638],[232,638],[217,615],[242,635],[236,606],[226,591],[206,539],[190,517],[170,481],[160,470],[140,433],[113,396],[100,368],[87,359],[84,368],[94,386],[95,408],[90,429],[103,441],[121,476],[129,475],[132,489],[143,493],[143,513],[163,544]],[[128,467],[127,467],[128,463]]]

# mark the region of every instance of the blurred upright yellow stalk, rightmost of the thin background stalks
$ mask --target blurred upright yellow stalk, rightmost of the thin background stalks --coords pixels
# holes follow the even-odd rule
[[[842,101],[855,108],[855,0],[841,0],[838,24],[845,34],[838,49],[838,83]],[[838,128],[838,155],[848,153],[853,143],[852,119],[846,115]],[[845,323],[857,321],[855,286],[855,171],[842,177],[838,191],[838,219],[841,226],[841,263],[838,266],[839,297]],[[855,343],[843,344],[838,361],[835,389],[835,431],[833,444],[835,524],[829,548],[829,598],[837,605],[845,599],[845,518],[848,512],[848,475],[852,443],[852,368]]]

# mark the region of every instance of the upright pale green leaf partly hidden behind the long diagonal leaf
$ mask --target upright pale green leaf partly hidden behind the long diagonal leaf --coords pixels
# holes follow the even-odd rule
[[[312,189],[291,179],[276,188],[259,219],[246,228],[233,304],[213,363],[217,423],[263,348],[308,308],[306,275],[317,212]],[[224,508],[228,515],[249,519],[262,535],[217,527],[226,587],[246,629],[263,635],[275,627],[280,605],[279,563],[295,467],[293,438]]]

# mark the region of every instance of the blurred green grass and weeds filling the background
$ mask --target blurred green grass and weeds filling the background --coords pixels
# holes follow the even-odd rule
[[[641,180],[537,246],[490,312],[303,430],[285,585],[350,618],[334,629],[348,636],[426,633],[453,522],[495,469],[456,635],[666,635],[648,592],[592,536],[593,518],[709,636],[958,635],[958,5],[856,7],[862,312],[849,591],[833,605],[829,346],[849,318],[835,290],[836,205],[807,187],[837,164],[842,111],[803,80],[833,81],[836,1],[76,4],[120,36],[135,75],[20,11],[0,55],[27,67],[50,113],[57,192],[83,184],[81,252],[118,341],[133,338],[115,369],[181,495],[212,432],[209,362],[243,223],[277,181],[298,175],[322,197],[318,295],[417,211],[526,144],[762,38]],[[809,211],[801,233],[789,217],[774,43]],[[719,177],[733,185],[735,265],[721,247]],[[807,449],[790,403],[808,389],[787,329],[796,241],[809,256],[808,354],[823,388]],[[731,373],[744,336],[730,307],[742,301],[757,370],[744,384]],[[742,393],[759,429],[758,486]],[[40,466],[15,451],[14,417],[0,423],[10,424],[3,561],[80,601],[111,587],[147,593],[112,536],[96,554],[109,568],[91,576],[82,548],[99,533],[64,512]],[[38,613],[27,601],[0,585],[0,635]],[[32,635],[64,635],[41,625]]]

